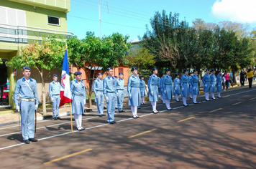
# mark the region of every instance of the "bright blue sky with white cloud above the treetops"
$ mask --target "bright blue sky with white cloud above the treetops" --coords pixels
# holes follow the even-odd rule
[[[146,25],[150,26],[150,18],[163,10],[179,13],[180,21],[186,19],[189,26],[200,18],[216,24],[248,23],[251,29],[256,28],[256,0],[70,0],[70,6],[68,31],[79,39],[85,38],[86,32],[94,32],[97,37],[119,32],[128,35],[129,42],[137,42],[138,36],[145,34]]]

